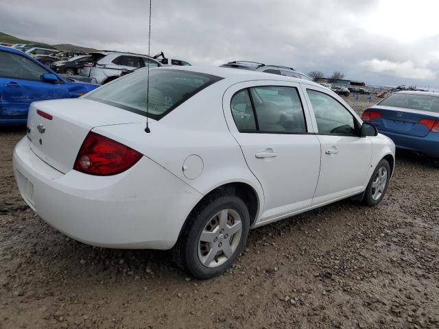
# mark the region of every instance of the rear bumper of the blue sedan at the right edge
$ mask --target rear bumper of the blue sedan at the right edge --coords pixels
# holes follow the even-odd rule
[[[439,158],[439,134],[436,132],[430,132],[427,136],[418,137],[398,134],[396,132],[381,131],[379,129],[378,131],[390,137],[396,147],[400,149],[408,149],[410,151],[420,152],[426,156],[431,156],[432,158]]]

